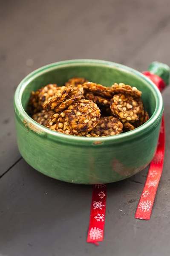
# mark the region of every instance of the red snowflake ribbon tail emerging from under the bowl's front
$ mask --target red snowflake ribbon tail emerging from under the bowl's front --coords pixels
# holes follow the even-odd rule
[[[98,242],[103,241],[105,212],[106,184],[93,185],[90,223],[87,235],[88,243],[95,243],[98,245]]]

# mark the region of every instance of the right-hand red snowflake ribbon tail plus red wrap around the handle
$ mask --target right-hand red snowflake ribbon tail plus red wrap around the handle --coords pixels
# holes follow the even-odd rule
[[[164,81],[157,75],[151,74],[149,71],[143,72],[150,80],[152,80],[158,89],[161,91],[165,87]],[[156,154],[150,163],[150,169],[147,175],[147,180],[144,185],[138,207],[136,209],[135,218],[149,220],[153,208],[158,183],[161,178],[164,164],[164,149],[165,149],[165,130],[164,116],[162,117],[161,129],[158,139]]]

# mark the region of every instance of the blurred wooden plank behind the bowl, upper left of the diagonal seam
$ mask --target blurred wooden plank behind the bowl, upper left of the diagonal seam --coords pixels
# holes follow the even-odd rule
[[[43,4],[16,0],[10,5],[3,1],[0,175],[20,157],[12,98],[24,76],[42,65],[71,58],[124,63],[166,22],[169,7],[169,0],[49,0]]]

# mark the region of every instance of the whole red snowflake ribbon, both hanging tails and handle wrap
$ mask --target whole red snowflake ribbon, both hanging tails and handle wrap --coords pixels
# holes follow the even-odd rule
[[[153,81],[161,91],[165,88],[164,81],[157,75],[144,71],[143,74]],[[138,207],[135,213],[135,218],[149,220],[152,212],[158,183],[161,178],[164,164],[164,148],[165,148],[165,132],[164,132],[164,116],[161,122],[161,129],[158,139],[156,154],[150,163],[150,169],[147,175],[147,180],[144,185]],[[90,211],[89,231],[87,242],[98,245],[99,241],[104,239],[104,223],[106,212],[106,184],[97,184],[92,190],[92,204]]]

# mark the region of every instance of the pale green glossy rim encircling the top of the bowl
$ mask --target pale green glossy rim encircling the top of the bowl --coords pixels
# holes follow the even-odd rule
[[[68,134],[62,134],[56,131],[52,131],[49,128],[44,127],[43,125],[38,124],[35,122],[23,109],[22,106],[22,95],[23,91],[25,90],[27,84],[30,83],[33,79],[36,77],[48,72],[49,70],[55,70],[57,67],[68,67],[69,65],[97,65],[97,66],[107,66],[107,67],[113,67],[118,70],[123,70],[126,73],[133,73],[133,75],[138,76],[141,80],[144,80],[147,82],[148,87],[150,87],[155,99],[156,99],[156,108],[153,113],[153,115],[150,117],[150,119],[141,125],[140,127],[134,129],[133,131],[128,131],[123,134],[118,134],[115,136],[108,136],[108,137],[78,137],[78,136],[70,136]],[[48,138],[52,140],[60,139],[60,140],[67,140],[68,143],[81,143],[81,142],[88,142],[92,144],[93,141],[102,141],[106,143],[117,143],[124,140],[130,140],[132,137],[136,138],[140,136],[141,134],[144,134],[148,130],[152,129],[155,125],[155,122],[160,119],[160,116],[163,113],[163,99],[161,96],[160,91],[156,87],[156,85],[147,78],[147,76],[144,76],[142,73],[138,72],[137,70],[134,70],[133,68],[127,67],[122,64],[118,64],[111,61],[103,61],[103,60],[95,60],[95,59],[73,59],[73,60],[67,60],[67,61],[58,61],[55,63],[51,63],[48,65],[45,65],[43,67],[40,67],[36,70],[34,70],[32,73],[29,73],[17,86],[17,89],[14,94],[14,111],[17,113],[20,113],[20,119],[26,119],[27,122],[31,123],[35,127],[38,128],[39,131],[42,131],[42,133],[48,135]]]

